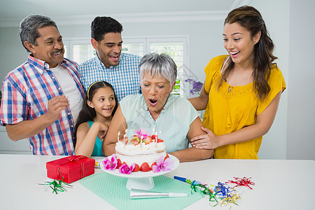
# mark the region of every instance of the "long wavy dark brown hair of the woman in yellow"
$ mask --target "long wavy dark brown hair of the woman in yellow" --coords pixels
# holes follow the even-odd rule
[[[262,16],[252,6],[241,6],[232,10],[228,17],[225,18],[225,24],[232,24],[238,22],[239,25],[246,28],[251,32],[251,36],[255,36],[261,31],[260,40],[254,46],[254,71],[253,71],[253,88],[255,94],[260,100],[265,99],[270,91],[270,86],[267,80],[270,76],[271,69],[276,66],[276,63],[272,63],[277,57],[272,52],[274,51],[274,43],[269,37],[265,21],[262,20]],[[227,69],[222,73],[222,78],[219,81],[219,85],[228,78],[228,74],[232,71],[234,62],[229,62]]]

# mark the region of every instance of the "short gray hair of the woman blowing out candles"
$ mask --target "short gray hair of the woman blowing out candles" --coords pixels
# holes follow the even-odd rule
[[[144,75],[150,72],[151,78],[162,76],[169,81],[172,87],[177,77],[177,66],[169,55],[165,53],[159,55],[156,52],[152,52],[142,57],[138,66],[138,72],[141,82],[144,79]]]

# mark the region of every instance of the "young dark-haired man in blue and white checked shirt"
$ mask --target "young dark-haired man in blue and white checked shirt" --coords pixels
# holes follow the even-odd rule
[[[91,43],[97,56],[79,66],[80,80],[85,91],[97,80],[113,85],[118,101],[130,94],[139,94],[138,66],[141,57],[122,50],[123,26],[113,18],[97,17],[91,25]]]

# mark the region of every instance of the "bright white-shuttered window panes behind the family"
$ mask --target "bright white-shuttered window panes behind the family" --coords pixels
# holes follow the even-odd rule
[[[184,97],[183,75],[188,66],[188,37],[165,37],[165,38],[123,38],[123,52],[143,57],[149,52],[166,52],[177,65],[178,77],[173,94]],[[64,57],[73,59],[78,64],[85,62],[96,55],[90,39],[64,41]]]

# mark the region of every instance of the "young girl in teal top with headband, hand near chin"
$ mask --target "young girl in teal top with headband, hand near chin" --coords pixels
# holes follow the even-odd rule
[[[90,85],[75,129],[76,155],[103,156],[102,142],[118,107],[113,86],[105,81]]]

